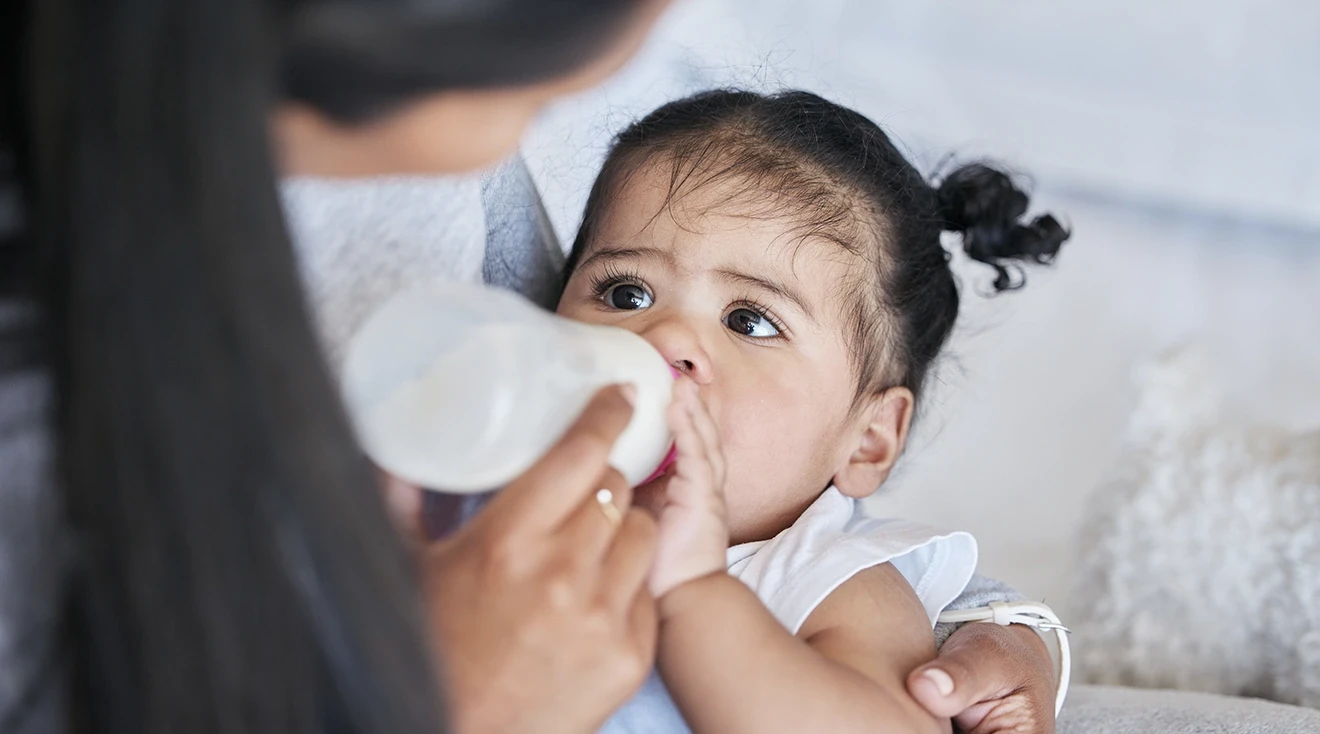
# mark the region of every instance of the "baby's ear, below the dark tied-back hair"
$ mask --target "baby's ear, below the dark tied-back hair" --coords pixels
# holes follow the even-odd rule
[[[834,486],[847,496],[863,498],[878,490],[903,455],[916,400],[906,387],[873,395],[858,413],[855,449],[834,474]]]

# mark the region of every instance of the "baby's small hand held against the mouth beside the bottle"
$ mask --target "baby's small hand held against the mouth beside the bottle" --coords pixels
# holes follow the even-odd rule
[[[677,458],[669,473],[639,490],[640,495],[656,492],[649,503],[660,528],[651,570],[656,598],[680,584],[723,572],[729,549],[719,430],[696,383],[678,379],[673,393],[668,420]]]

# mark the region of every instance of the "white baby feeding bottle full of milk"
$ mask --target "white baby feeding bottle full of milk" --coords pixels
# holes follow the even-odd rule
[[[636,385],[610,465],[639,484],[672,459],[673,372],[642,337],[546,313],[463,283],[385,302],[348,343],[342,389],[367,454],[421,487],[504,486],[565,433],[602,387]]]

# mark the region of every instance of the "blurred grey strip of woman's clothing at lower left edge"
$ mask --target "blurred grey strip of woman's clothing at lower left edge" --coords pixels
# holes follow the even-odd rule
[[[18,331],[30,314],[0,304],[0,326]],[[57,624],[66,533],[51,486],[49,375],[0,345],[0,731],[59,729],[62,688]]]

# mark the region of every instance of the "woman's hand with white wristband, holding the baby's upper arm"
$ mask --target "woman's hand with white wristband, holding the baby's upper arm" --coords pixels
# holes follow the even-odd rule
[[[1055,730],[1053,661],[1030,627],[964,624],[907,685],[925,710],[968,734]]]

